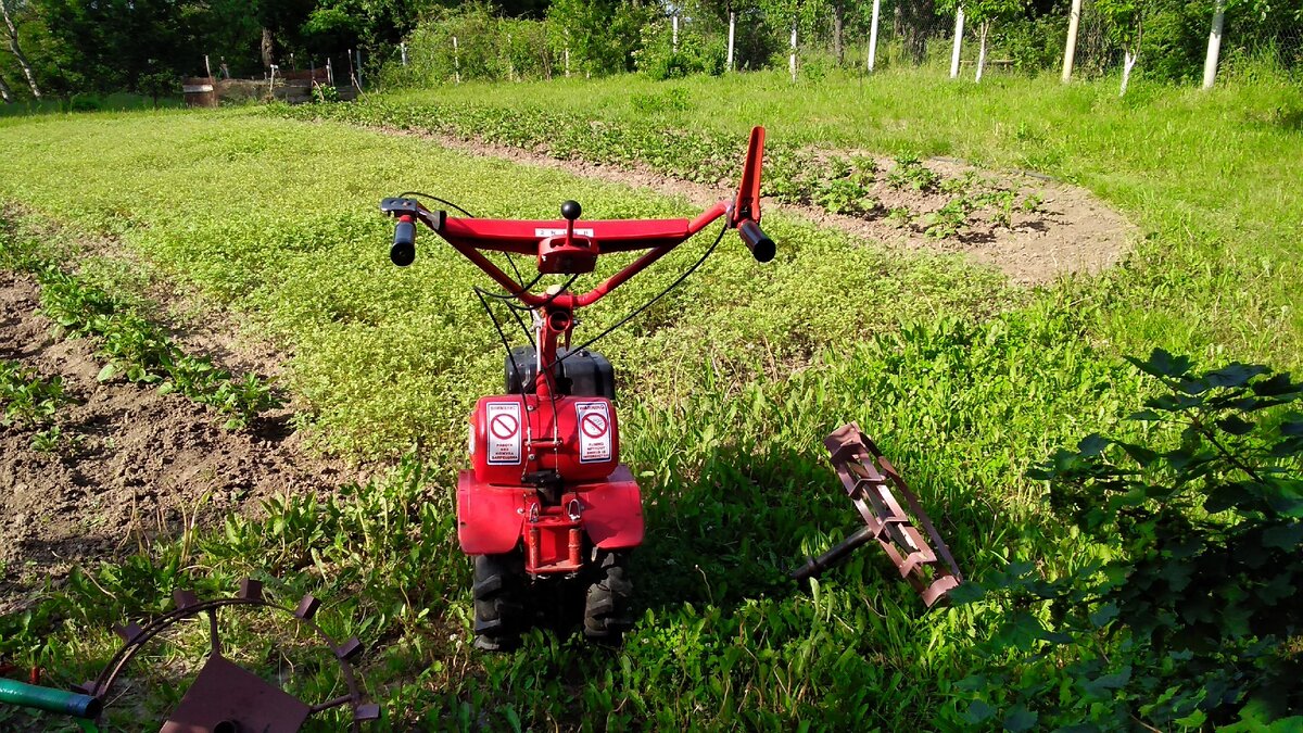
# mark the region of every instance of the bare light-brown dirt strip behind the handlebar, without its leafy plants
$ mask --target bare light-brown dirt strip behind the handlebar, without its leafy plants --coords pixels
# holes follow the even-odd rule
[[[519,147],[468,142],[444,134],[396,128],[373,129],[387,134],[433,140],[444,147],[473,155],[500,158],[541,168],[558,168],[601,181],[652,189],[666,196],[683,196],[698,206],[709,206],[735,194],[735,183],[696,184],[649,170],[559,160]],[[894,162],[886,158],[877,158],[877,163],[880,171],[887,171],[894,166]],[[889,248],[966,254],[975,262],[994,266],[1011,280],[1028,286],[1049,283],[1062,275],[1101,273],[1122,261],[1135,236],[1135,227],[1124,217],[1083,188],[1032,173],[984,171],[946,158],[924,160],[924,166],[943,179],[960,179],[972,173],[995,185],[1020,192],[1022,196],[1035,194],[1041,203],[1037,211],[1014,211],[1007,227],[993,226],[981,217],[972,218],[967,231],[942,240],[929,239],[919,226],[900,226],[886,217],[846,217],[829,214],[814,206],[778,203],[767,198],[762,202],[764,209],[766,213],[782,211],[784,215],[835,227]],[[926,194],[908,189],[895,190],[881,180],[873,194],[882,202],[885,210],[908,207],[916,220],[936,213],[951,198],[939,192]]]

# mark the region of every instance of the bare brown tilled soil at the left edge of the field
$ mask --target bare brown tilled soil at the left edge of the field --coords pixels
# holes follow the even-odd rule
[[[63,377],[74,402],[56,423],[72,442],[42,453],[36,428],[0,425],[0,614],[27,606],[77,565],[180,536],[188,523],[257,513],[270,496],[324,493],[354,477],[309,455],[288,411],[228,432],[216,411],[179,394],[96,381],[94,347],[56,338],[36,308],[35,283],[0,273],[0,359]]]

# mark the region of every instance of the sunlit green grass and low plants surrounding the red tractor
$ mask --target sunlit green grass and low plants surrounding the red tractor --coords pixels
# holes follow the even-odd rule
[[[0,620],[0,652],[79,680],[112,648],[108,626],[165,608],[177,578],[215,595],[251,574],[287,601],[309,590],[330,600],[330,630],[371,648],[364,672],[395,729],[960,726],[955,683],[986,664],[977,643],[999,609],[924,613],[873,550],[812,595],[786,580],[855,526],[822,436],[857,420],[878,438],[969,575],[1031,561],[1057,576],[1093,557],[1023,473],[1057,445],[1118,434],[1141,394],[1119,352],[1298,364],[1303,327],[1281,310],[1298,275],[1298,194],[1283,172],[1303,162],[1296,132],[1251,121],[1296,93],[1139,89],[1117,102],[1102,85],[1048,81],[975,89],[899,73],[792,90],[779,78],[676,82],[689,110],[652,121],[739,136],[760,121],[794,145],[1032,167],[1097,190],[1148,237],[1119,271],[1035,292],[782,217],[765,219],[780,252],[769,266],[727,239],[685,288],[601,346],[620,374],[623,458],[649,528],[633,567],[645,612],[620,650],[551,631],[512,655],[468,650],[452,475],[470,404],[498,389],[500,348],[469,296],[476,271],[433,236],[414,266],[392,267],[374,206],[408,188],[498,217],[551,217],[563,198],[592,217],[681,215],[684,202],[245,111],[0,123],[13,151],[0,198],[73,233],[116,236],[212,308],[248,314],[293,353],[288,386],[323,445],[362,458],[420,446],[425,458],[87,569],[30,616]],[[622,78],[438,94],[637,121],[629,97],[657,89]],[[1217,162],[1233,167],[1201,183]],[[618,291],[584,331],[658,292],[706,244]],[[235,636],[244,653],[263,643]],[[310,673],[300,691],[321,699],[331,685]]]

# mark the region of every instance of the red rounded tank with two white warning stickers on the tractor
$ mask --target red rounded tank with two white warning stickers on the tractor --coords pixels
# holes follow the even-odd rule
[[[567,483],[605,479],[620,462],[615,406],[603,396],[481,398],[470,413],[470,459],[486,484],[519,486],[525,473],[552,470]]]

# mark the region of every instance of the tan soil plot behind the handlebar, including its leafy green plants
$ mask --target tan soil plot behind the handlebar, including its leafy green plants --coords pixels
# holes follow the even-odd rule
[[[440,145],[515,163],[564,170],[584,177],[683,196],[697,205],[727,197],[736,181],[692,183],[648,167],[562,160],[520,147],[386,128],[395,134],[434,137]],[[1046,176],[994,173],[952,158],[873,158],[863,201],[868,211],[814,202],[764,200],[765,211],[795,214],[877,245],[912,252],[963,254],[1020,284],[1045,284],[1063,275],[1092,275],[1119,263],[1136,235],[1126,217],[1091,192]],[[903,160],[903,162],[902,162]],[[919,171],[926,173],[920,175]],[[929,176],[930,173],[930,176]],[[850,175],[850,173],[848,173]],[[770,189],[766,183],[765,190]],[[847,200],[848,206],[855,200]]]

